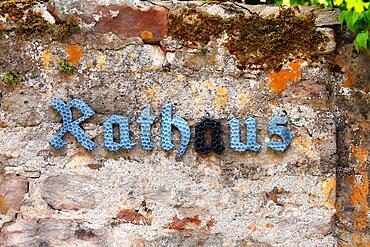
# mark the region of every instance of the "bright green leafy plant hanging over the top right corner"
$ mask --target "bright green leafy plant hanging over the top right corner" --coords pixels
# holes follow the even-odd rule
[[[366,1],[366,0],[365,0]],[[370,48],[370,2],[364,0],[276,0],[282,5],[316,5],[326,8],[339,8],[340,23],[346,24],[348,30],[356,33],[354,40],[355,49]]]

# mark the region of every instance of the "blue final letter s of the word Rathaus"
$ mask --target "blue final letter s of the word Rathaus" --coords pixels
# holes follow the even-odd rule
[[[292,142],[292,132],[288,127],[284,126],[288,123],[288,118],[286,117],[273,117],[268,123],[269,135],[277,135],[282,141],[270,141],[267,146],[276,152],[284,152],[285,149]]]

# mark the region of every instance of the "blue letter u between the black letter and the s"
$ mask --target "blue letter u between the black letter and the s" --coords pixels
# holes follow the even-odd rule
[[[229,121],[230,125],[230,147],[237,152],[245,152],[247,150],[257,152],[261,145],[257,143],[256,138],[256,120],[249,117],[244,122],[247,128],[247,144],[240,141],[240,123],[236,118]]]

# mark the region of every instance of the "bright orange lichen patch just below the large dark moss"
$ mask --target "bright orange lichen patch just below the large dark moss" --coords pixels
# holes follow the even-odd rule
[[[297,81],[301,76],[301,63],[303,60],[288,63],[290,70],[281,69],[276,73],[269,73],[267,77],[271,80],[268,87],[271,88],[272,93],[281,93],[286,89],[288,82]]]

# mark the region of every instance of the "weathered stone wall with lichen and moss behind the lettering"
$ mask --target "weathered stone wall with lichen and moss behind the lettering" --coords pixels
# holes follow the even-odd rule
[[[211,2],[0,3],[1,246],[367,246],[369,57],[338,32],[337,12]],[[350,37],[349,37],[350,38]],[[96,114],[62,126],[54,99]],[[176,158],[160,147],[161,109],[191,126]],[[156,147],[136,119],[156,116]],[[130,119],[135,146],[104,149],[102,124]],[[194,128],[219,119],[221,155],[194,150]],[[227,121],[257,120],[258,153],[229,148]],[[268,149],[287,116],[293,141]],[[245,135],[244,127],[241,128]]]

